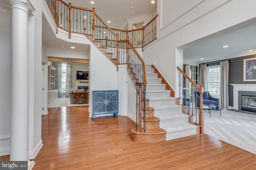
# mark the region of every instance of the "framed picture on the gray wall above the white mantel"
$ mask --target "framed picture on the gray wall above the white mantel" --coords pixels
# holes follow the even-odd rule
[[[256,81],[256,58],[244,59],[244,82]]]

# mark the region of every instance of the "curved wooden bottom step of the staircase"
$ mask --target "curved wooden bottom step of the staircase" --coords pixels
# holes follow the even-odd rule
[[[136,132],[136,129],[132,129],[132,141],[134,142],[140,142],[140,143],[154,143],[154,142],[161,142],[165,141],[166,137],[166,131],[164,131],[161,128],[156,129],[146,129],[146,132],[144,132],[144,129],[142,129],[142,133],[140,131]]]

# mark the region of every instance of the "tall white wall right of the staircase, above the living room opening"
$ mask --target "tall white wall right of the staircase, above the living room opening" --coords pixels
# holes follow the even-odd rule
[[[176,91],[176,66],[183,64],[182,52],[176,48],[256,17],[255,0],[158,0],[157,4],[158,39],[144,47],[144,61],[156,62]]]

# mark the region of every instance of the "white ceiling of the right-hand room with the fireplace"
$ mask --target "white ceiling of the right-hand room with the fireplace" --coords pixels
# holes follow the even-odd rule
[[[253,18],[181,46],[184,60],[206,63],[256,54],[255,24]],[[224,45],[228,47],[223,48]]]

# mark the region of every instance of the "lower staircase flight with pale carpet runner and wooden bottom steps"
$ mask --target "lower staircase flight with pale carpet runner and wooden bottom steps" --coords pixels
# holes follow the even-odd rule
[[[133,141],[151,143],[196,135],[197,126],[188,123],[189,115],[182,113],[182,106],[170,97],[172,92],[151,67],[146,65],[146,132],[132,129]]]

